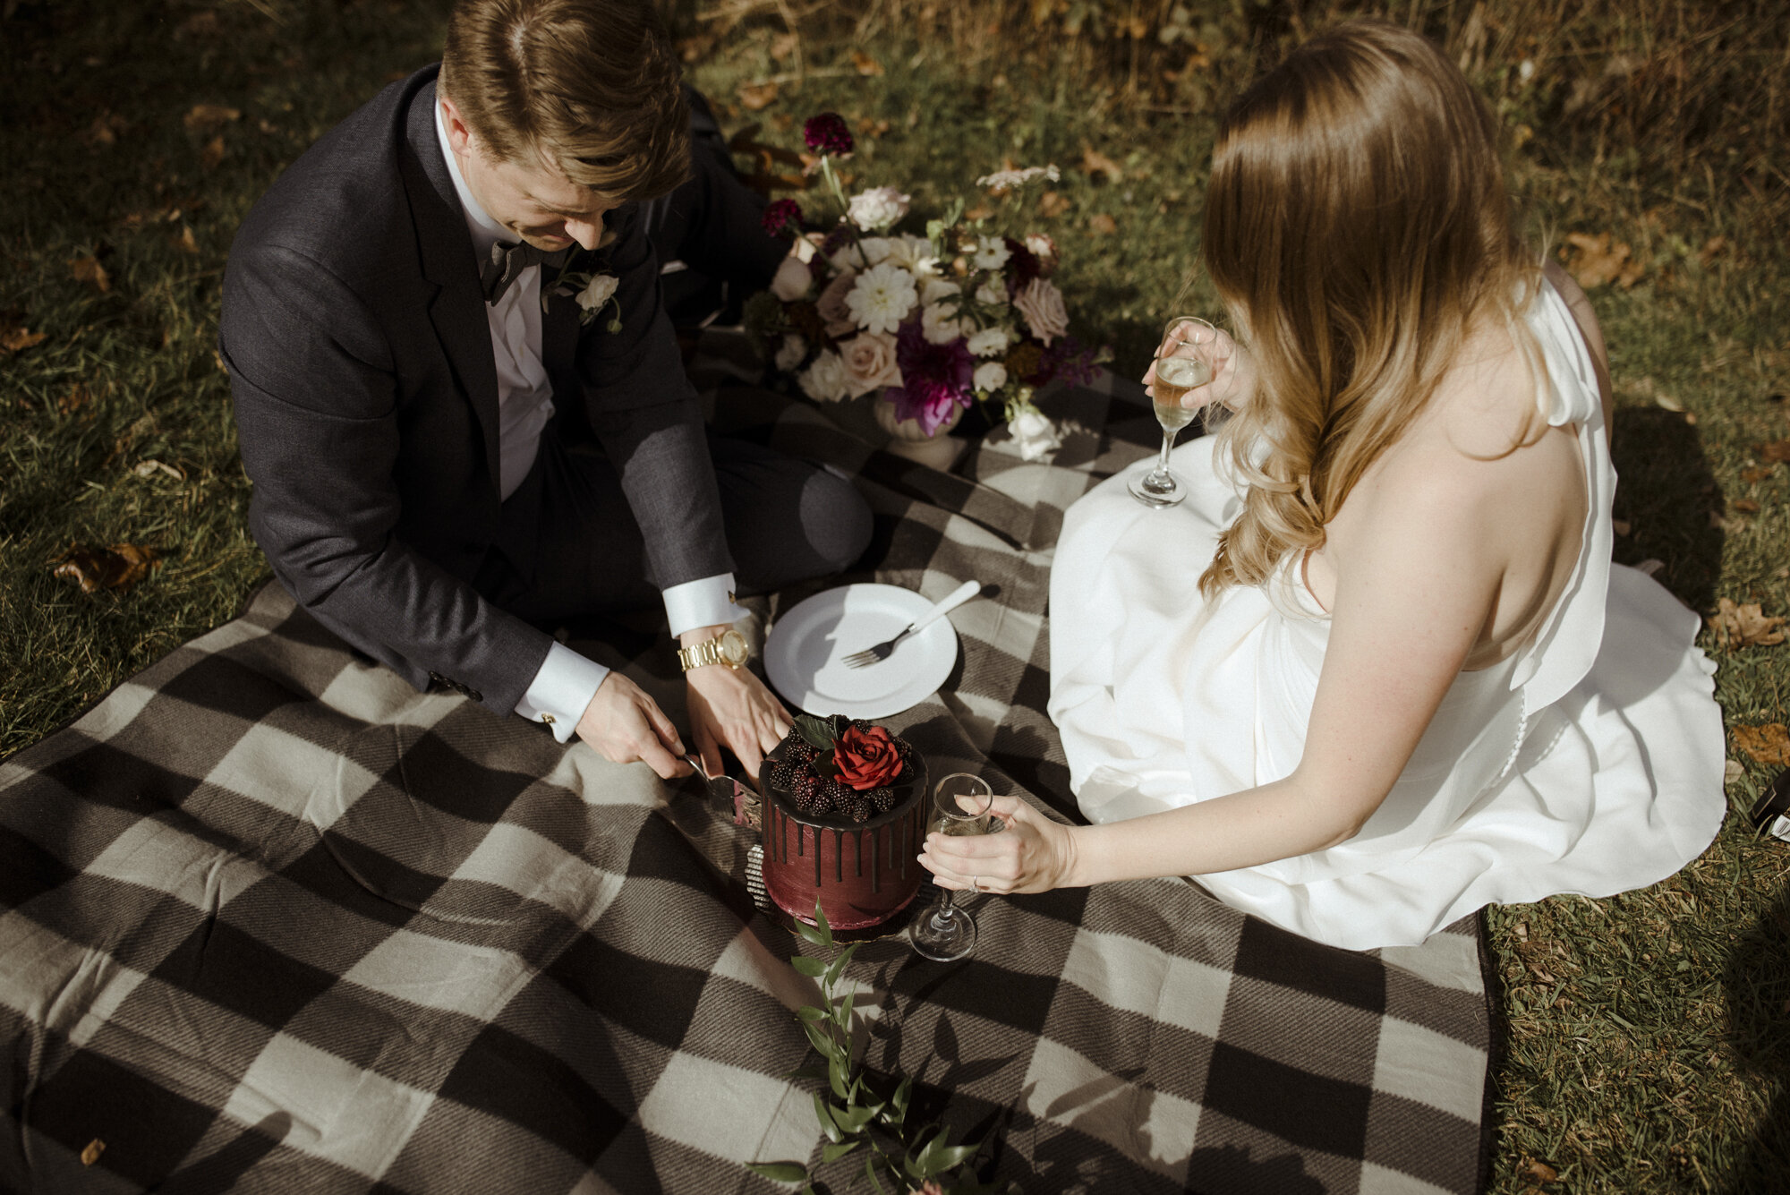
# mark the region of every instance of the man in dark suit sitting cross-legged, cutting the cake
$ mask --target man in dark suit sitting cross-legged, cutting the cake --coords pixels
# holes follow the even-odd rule
[[[661,256],[763,284],[782,249],[689,125],[646,0],[462,0],[440,68],[243,220],[218,335],[251,528],[301,605],[417,687],[668,778],[664,712],[542,628],[662,601],[696,750],[755,773],[789,716],[737,667],[736,578],[870,537],[843,478],[703,431]]]

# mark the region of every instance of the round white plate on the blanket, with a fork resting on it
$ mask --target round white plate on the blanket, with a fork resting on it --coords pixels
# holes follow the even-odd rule
[[[899,585],[845,585],[786,610],[764,639],[764,673],[786,701],[809,714],[888,717],[929,698],[958,662],[958,631],[938,619],[870,667],[845,657],[900,631],[933,603]]]

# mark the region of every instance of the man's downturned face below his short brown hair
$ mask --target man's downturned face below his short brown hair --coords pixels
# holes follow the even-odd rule
[[[460,177],[492,220],[548,252],[573,242],[585,249],[598,247],[603,216],[621,206],[618,200],[578,186],[544,161],[496,161],[473,136],[453,100],[442,97],[440,104]]]

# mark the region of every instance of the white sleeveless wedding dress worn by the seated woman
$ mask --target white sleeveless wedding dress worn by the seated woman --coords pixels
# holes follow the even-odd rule
[[[1572,581],[1511,658],[1461,673],[1385,803],[1339,846],[1196,877],[1307,937],[1421,943],[1486,903],[1607,896],[1695,859],[1727,809],[1715,665],[1699,619],[1609,560],[1609,462],[1597,376],[1543,286],[1529,326],[1550,424],[1575,424],[1590,512]],[[1552,390],[1548,394],[1548,390]],[[1051,717],[1095,823],[1282,778],[1300,762],[1330,624],[1298,571],[1206,603],[1199,574],[1240,506],[1212,438],[1174,453],[1189,497],[1149,510],[1137,469],[1087,494],[1051,574]]]

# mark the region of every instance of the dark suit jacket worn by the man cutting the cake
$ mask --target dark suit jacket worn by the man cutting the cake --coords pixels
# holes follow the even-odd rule
[[[533,519],[516,504],[537,499],[517,490],[503,524],[524,530],[499,537],[498,376],[435,73],[388,86],[261,197],[231,245],[218,342],[251,530],[279,581],[417,687],[449,678],[508,714],[550,639],[473,580],[492,551],[528,576]],[[548,435],[596,436],[664,589],[734,565],[659,261],[637,208],[609,220],[623,327],[580,327],[571,299],[550,301]]]

